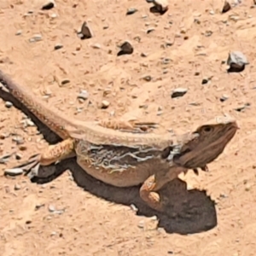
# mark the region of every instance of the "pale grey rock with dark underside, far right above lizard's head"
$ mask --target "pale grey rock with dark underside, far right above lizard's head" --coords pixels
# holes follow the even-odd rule
[[[241,72],[244,70],[245,65],[249,64],[247,57],[241,53],[241,51],[230,52],[227,64],[230,66],[229,73]]]

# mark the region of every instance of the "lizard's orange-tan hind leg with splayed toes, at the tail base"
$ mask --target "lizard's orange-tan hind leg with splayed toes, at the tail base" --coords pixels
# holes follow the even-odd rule
[[[16,166],[16,168],[20,167],[26,174],[32,172],[32,176],[37,176],[39,166],[49,166],[50,164],[73,157],[75,155],[73,148],[74,141],[72,138],[68,138],[61,143],[50,145],[49,148],[44,149],[44,152],[33,155],[20,166]]]

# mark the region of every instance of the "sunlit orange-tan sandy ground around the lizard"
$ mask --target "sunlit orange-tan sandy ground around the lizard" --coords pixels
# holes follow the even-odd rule
[[[12,155],[0,165],[1,255],[255,254],[256,9],[247,0],[220,14],[222,4],[170,1],[166,14],[156,15],[152,3],[135,0],[56,1],[44,11],[40,1],[1,0],[0,68],[67,115],[136,117],[183,133],[228,113],[241,127],[210,172],[188,173],[192,189],[182,179],[164,189],[171,207],[160,214],[143,204],[139,188],[100,183],[75,160],[56,166],[68,171],[44,183],[4,177],[5,168],[57,138],[32,125],[2,91],[0,150]],[[137,12],[125,15],[129,8]],[[76,34],[84,20],[93,32],[87,40]],[[125,40],[133,54],[117,56]],[[241,73],[226,72],[232,50],[249,61]],[[172,98],[178,87],[187,93]],[[81,90],[88,93],[84,101]],[[102,101],[109,107],[102,109]]]

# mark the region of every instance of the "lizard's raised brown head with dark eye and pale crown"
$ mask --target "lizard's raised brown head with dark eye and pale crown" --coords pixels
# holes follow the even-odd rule
[[[189,169],[207,167],[207,164],[222,154],[226,145],[239,129],[236,119],[216,117],[192,132],[180,148],[179,154],[174,155],[173,161],[178,166]]]

